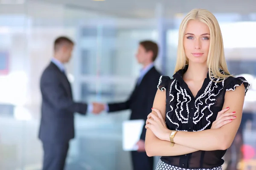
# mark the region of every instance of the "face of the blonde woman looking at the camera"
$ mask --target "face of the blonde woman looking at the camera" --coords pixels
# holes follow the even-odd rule
[[[189,63],[206,63],[210,46],[210,31],[205,23],[189,21],[183,39],[186,57]]]

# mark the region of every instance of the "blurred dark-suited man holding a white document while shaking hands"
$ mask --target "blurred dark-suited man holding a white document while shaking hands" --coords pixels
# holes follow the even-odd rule
[[[154,61],[158,55],[158,45],[152,41],[142,41],[139,44],[136,58],[143,66],[140,76],[128,100],[124,102],[108,103],[105,110],[113,113],[131,109],[131,120],[144,119],[151,113],[154,96],[157,92],[157,85],[161,74],[154,67]],[[102,104],[103,105],[103,104]],[[132,162],[134,170],[153,170],[153,157],[148,157],[145,153],[145,125],[137,142],[137,151],[132,151]]]

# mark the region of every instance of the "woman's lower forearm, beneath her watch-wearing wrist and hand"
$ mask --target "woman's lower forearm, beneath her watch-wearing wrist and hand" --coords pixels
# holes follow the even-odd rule
[[[153,138],[148,140],[148,142],[146,141],[145,150],[148,156],[179,156],[198,151],[180,144],[171,146],[171,142],[163,141],[158,138]]]

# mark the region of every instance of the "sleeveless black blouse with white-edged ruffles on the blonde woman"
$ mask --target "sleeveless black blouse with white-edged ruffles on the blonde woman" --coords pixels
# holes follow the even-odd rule
[[[157,88],[166,91],[166,125],[170,130],[199,131],[210,129],[217,114],[222,110],[226,91],[234,91],[236,86],[244,84],[245,93],[250,84],[244,77],[228,77],[222,82],[209,74],[196,97],[192,95],[183,80],[184,69],[177,71],[174,79],[161,76]],[[222,74],[224,71],[219,69]],[[189,141],[188,141],[189,142]],[[199,169],[218,167],[224,163],[222,157],[226,150],[197,151],[181,156],[162,156],[161,160],[176,167]]]

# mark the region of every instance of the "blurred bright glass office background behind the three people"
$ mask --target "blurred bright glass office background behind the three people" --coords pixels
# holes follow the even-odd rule
[[[236,138],[243,137],[243,145],[232,146],[225,159],[234,162],[239,155],[235,153],[244,153],[238,166],[255,168],[255,6],[253,0],[0,0],[0,169],[41,169],[39,78],[57,36],[76,42],[67,65],[76,100],[125,100],[140,70],[135,58],[138,42],[158,42],[157,68],[171,77],[178,28],[193,8],[215,14],[230,72],[243,74],[252,85],[242,133]],[[122,121],[129,114],[77,114],[67,170],[131,170],[130,155],[122,150]]]

